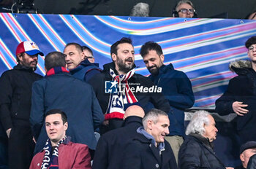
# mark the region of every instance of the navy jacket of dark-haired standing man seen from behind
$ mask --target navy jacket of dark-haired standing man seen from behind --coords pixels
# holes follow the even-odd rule
[[[72,142],[96,148],[94,129],[104,117],[91,85],[64,72],[34,82],[30,122],[37,140],[35,153],[41,151],[48,138],[44,120],[50,109],[61,109],[67,114],[67,135]]]

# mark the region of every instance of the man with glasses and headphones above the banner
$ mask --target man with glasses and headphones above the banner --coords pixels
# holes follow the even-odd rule
[[[173,17],[197,17],[192,1],[178,1],[178,4],[173,8]]]

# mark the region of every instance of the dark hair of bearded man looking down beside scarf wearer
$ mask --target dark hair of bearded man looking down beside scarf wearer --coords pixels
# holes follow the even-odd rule
[[[142,56],[142,58],[145,55],[148,55],[148,52],[150,50],[155,50],[157,52],[157,55],[162,55],[162,47],[156,42],[149,41],[143,44],[143,46],[140,48],[140,55]]]

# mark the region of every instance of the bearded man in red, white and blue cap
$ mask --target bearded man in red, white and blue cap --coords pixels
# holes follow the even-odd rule
[[[32,83],[42,76],[35,74],[37,55],[43,53],[34,42],[21,42],[16,49],[18,65],[0,78],[0,119],[8,137],[9,168],[29,168],[34,141],[29,123]]]

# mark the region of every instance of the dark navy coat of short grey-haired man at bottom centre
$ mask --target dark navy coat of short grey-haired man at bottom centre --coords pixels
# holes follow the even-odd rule
[[[165,150],[151,144],[144,135],[137,134],[127,145],[122,169],[176,169],[177,164],[170,144],[165,141]]]

